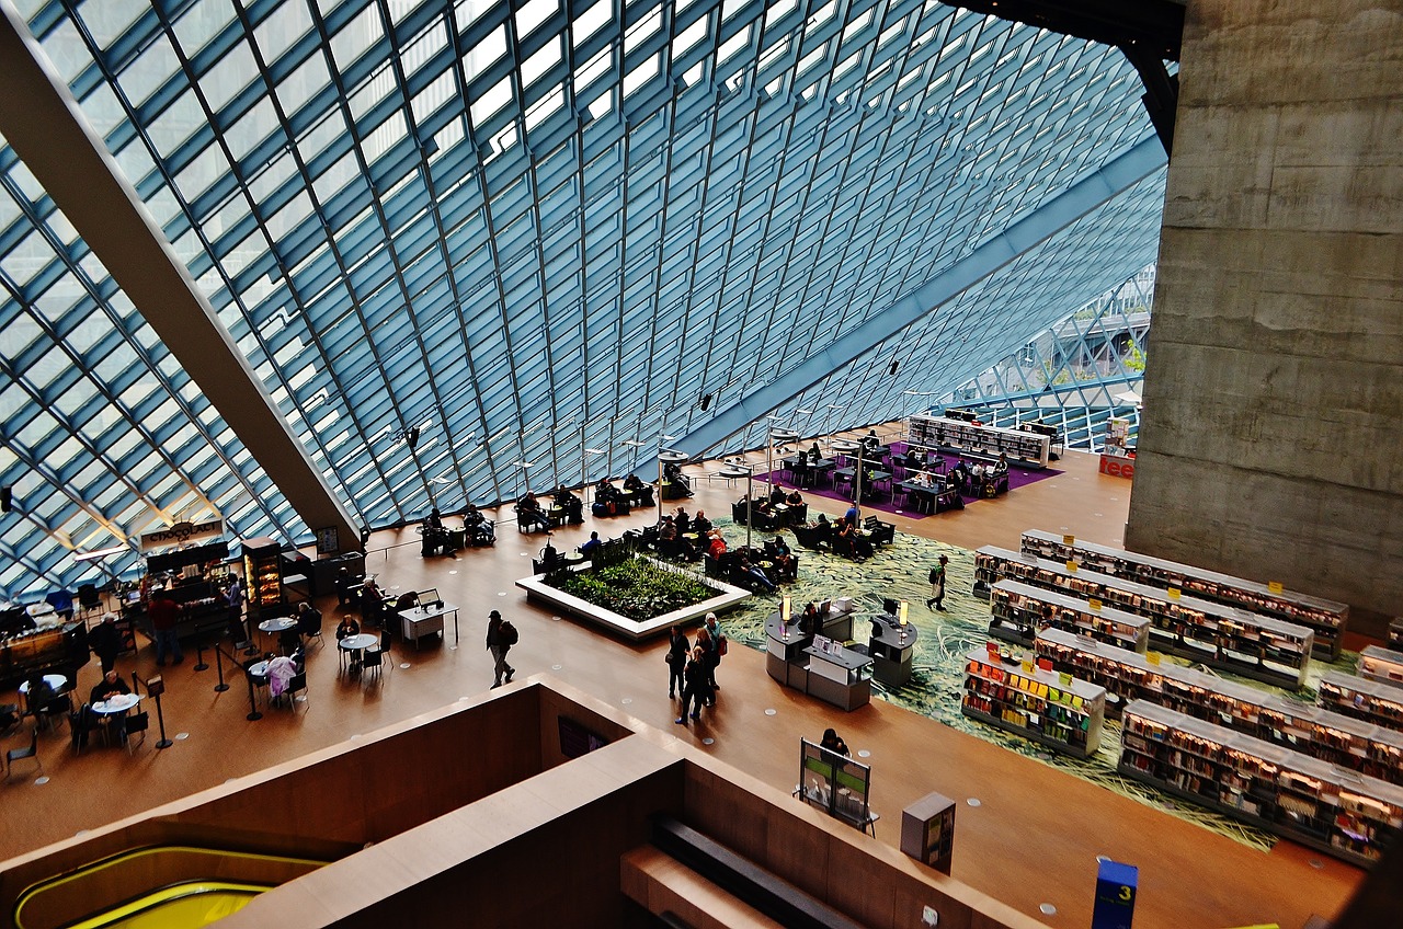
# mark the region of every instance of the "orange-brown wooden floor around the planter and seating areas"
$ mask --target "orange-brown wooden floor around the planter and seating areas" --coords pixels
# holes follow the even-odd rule
[[[1063,470],[1059,476],[962,512],[918,521],[898,516],[897,522],[901,532],[965,547],[1017,547],[1019,535],[1028,528],[1118,544],[1129,483],[1099,474],[1096,462],[1094,456],[1069,453],[1058,463]],[[689,511],[702,507],[713,515],[727,514],[741,495],[744,481],[728,487],[707,477],[717,467],[710,462],[689,469],[699,487]],[[836,501],[811,498],[811,505],[840,512]],[[556,544],[568,549],[591,529],[617,536],[654,518],[655,512],[636,512],[586,521],[557,532]],[[530,556],[543,542],[544,536],[519,535],[515,525],[504,522],[494,549],[425,560],[412,528],[376,533],[369,570],[391,589],[436,587],[462,606],[456,644],[452,629],[443,644],[425,643],[418,653],[397,644],[396,664],[408,667],[396,667],[382,685],[370,686],[338,679],[334,647],[313,650],[310,699],[303,710],[271,710],[258,721],[244,719],[248,693],[237,674],[226,672],[233,688],[216,693],[216,671],[195,672],[194,657],[188,657],[182,665],[164,669],[167,730],[175,738],[170,749],[153,749],[153,733],[135,756],[116,748],[73,756],[66,731],[41,735],[49,782],[36,784],[31,768],[21,766],[0,790],[0,857],[477,693],[491,683],[491,661],[483,646],[485,616],[501,609],[521,629],[521,644],[511,657],[519,674],[557,675],[647,724],[703,745],[784,793],[794,784],[800,737],[817,738],[825,727],[836,727],[854,752],[870,752],[863,761],[873,765],[873,806],[881,814],[877,841],[898,845],[901,810],[923,794],[934,790],[955,797],[961,806],[954,876],[1051,926],[1089,925],[1099,855],[1139,866],[1136,929],[1271,922],[1294,929],[1312,914],[1333,915],[1361,880],[1358,869],[1289,842],[1271,853],[1254,852],[881,700],[854,713],[832,710],[776,685],[765,674],[763,654],[748,648],[734,648],[723,664],[716,713],[689,728],[675,726],[664,641],[636,646],[606,637],[535,609],[512,587],[529,573]],[[324,598],[321,605],[330,639],[335,601]],[[153,674],[150,647],[123,658],[119,668]],[[84,668],[81,689],[86,692],[97,676],[95,664]],[[4,748],[18,744],[20,737],[11,735]],[[1055,907],[1055,914],[1040,909],[1044,904]]]

